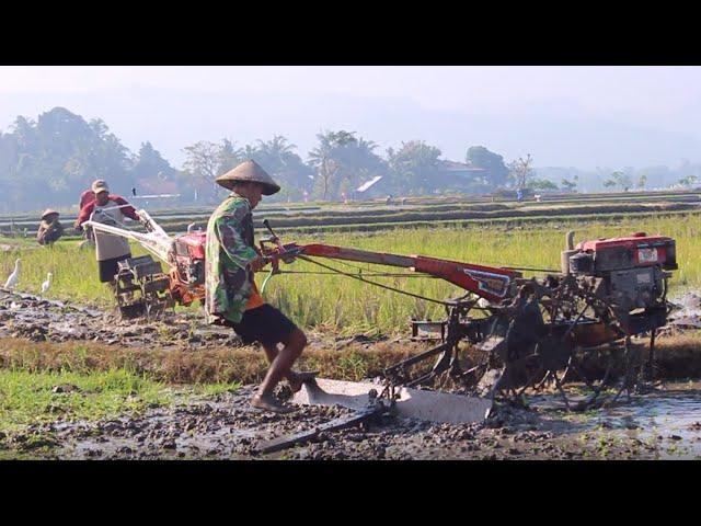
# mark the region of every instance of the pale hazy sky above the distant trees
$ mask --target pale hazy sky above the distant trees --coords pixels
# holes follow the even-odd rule
[[[463,160],[482,145],[536,165],[701,161],[701,67],[0,67],[0,130],[64,106],[100,117],[133,151],[285,135],[298,153],[322,129],[380,152],[424,139]]]

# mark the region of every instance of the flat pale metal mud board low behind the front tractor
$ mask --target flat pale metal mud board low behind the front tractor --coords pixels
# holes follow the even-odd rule
[[[341,405],[361,411],[368,405],[368,392],[378,393],[382,386],[370,382],[331,380],[317,378],[317,386],[304,384],[292,402],[302,405]],[[449,424],[482,422],[492,409],[492,401],[476,397],[464,397],[439,391],[423,391],[402,387],[395,414],[403,418]]]

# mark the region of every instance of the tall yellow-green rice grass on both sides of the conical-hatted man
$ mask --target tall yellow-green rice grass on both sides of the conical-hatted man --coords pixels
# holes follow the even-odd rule
[[[397,254],[422,254],[455,261],[495,266],[551,268],[558,271],[565,232],[575,230],[575,242],[600,237],[627,236],[635,231],[669,236],[677,241],[679,270],[671,279],[671,296],[686,289],[701,288],[701,248],[697,242],[701,215],[696,211],[669,211],[637,215],[555,216],[542,220],[474,222],[429,221],[428,226],[388,227],[375,231],[333,231],[287,229],[284,242],[326,243]],[[263,232],[258,232],[263,233]],[[106,307],[113,300],[105,285],[97,281],[97,265],[91,250],[80,250],[78,240],[67,239],[54,249],[37,247],[31,239],[0,238],[0,281],[22,259],[19,289],[37,294],[48,272],[53,283],[47,297]],[[145,253],[133,245],[133,253]],[[377,265],[319,260],[345,273],[404,272]],[[281,264],[284,271],[269,279],[265,299],[279,307],[307,329],[337,334],[406,333],[411,318],[441,319],[444,308],[360,283],[304,261]],[[258,274],[258,285],[266,272]],[[411,273],[407,273],[411,274]],[[526,276],[533,275],[525,271]],[[406,277],[368,277],[378,283],[421,296],[447,299],[461,289],[440,279]],[[199,307],[191,307],[199,309]]]

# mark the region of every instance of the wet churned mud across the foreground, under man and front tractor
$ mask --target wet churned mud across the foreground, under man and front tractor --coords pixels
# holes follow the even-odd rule
[[[35,458],[54,459],[699,459],[701,384],[664,385],[587,413],[558,409],[555,397],[530,409],[501,407],[479,424],[435,424],[383,418],[281,451],[262,454],[266,441],[308,431],[352,412],[300,407],[285,415],[250,408],[254,392],[187,399],[140,416],[30,426],[51,445]],[[36,444],[36,441],[34,441]],[[32,456],[30,454],[30,456]]]

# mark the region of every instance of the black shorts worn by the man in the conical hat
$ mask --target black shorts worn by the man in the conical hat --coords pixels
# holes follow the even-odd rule
[[[231,327],[246,345],[253,342],[263,345],[287,343],[290,334],[297,329],[289,318],[268,304],[246,310],[239,323],[226,320],[225,325]]]

